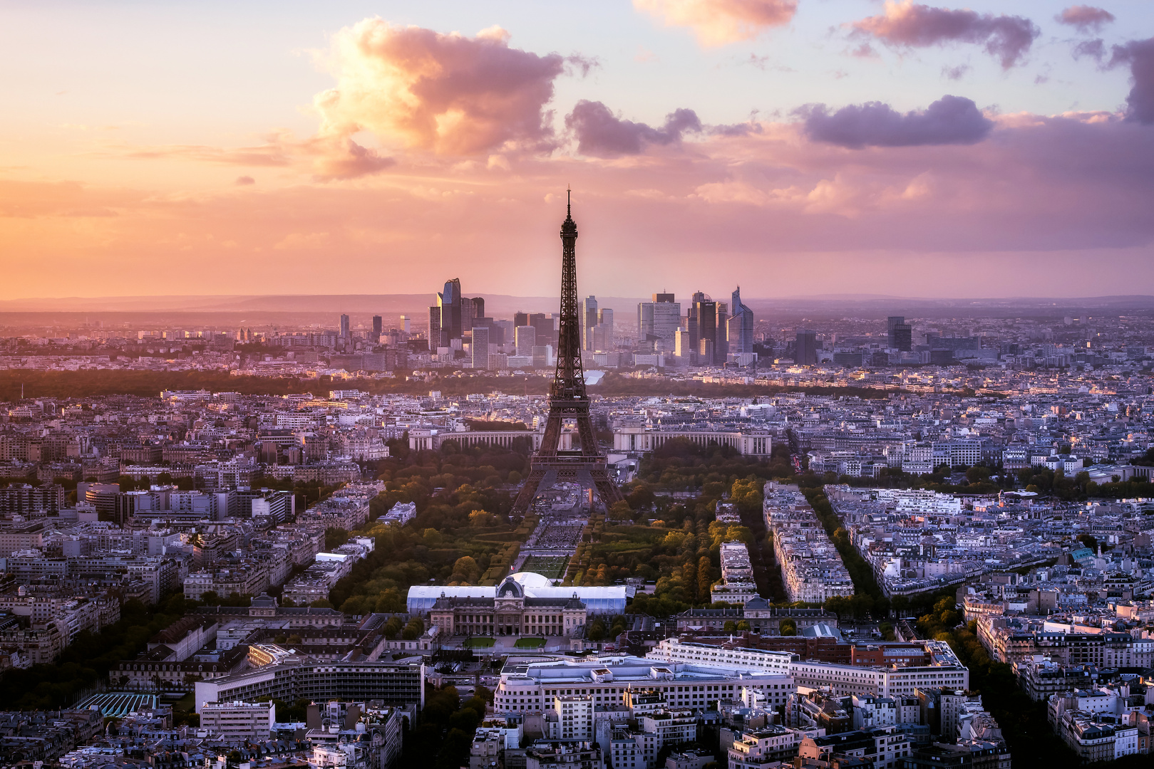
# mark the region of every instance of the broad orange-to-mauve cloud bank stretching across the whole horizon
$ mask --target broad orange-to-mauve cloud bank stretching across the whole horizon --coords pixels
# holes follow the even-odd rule
[[[404,175],[372,184],[280,183],[284,174],[243,169],[195,193],[168,173],[147,189],[0,179],[0,296],[43,295],[48,261],[60,295],[171,292],[163,272],[148,270],[166,256],[202,267],[181,282],[188,293],[219,291],[222,271],[265,293],[299,293],[294,277],[313,269],[312,293],[349,291],[351,270],[396,293],[432,291],[435,273],[459,274],[477,294],[546,295],[556,274],[534,256],[556,239],[565,181],[582,190],[574,216],[591,239],[582,257],[591,294],[652,286],[652,254],[674,276],[702,264],[718,281],[752,276],[752,296],[772,295],[782,270],[795,282],[807,271],[829,274],[831,292],[965,296],[1027,286],[1078,296],[1110,293],[1121,273],[1151,293],[1154,130],[1108,113],[989,118],[996,131],[973,144],[853,151],[807,141],[801,120],[762,120],[759,133],[737,136],[706,127],[691,135],[691,156],[653,146],[620,163],[522,156],[508,174],[485,156],[460,171],[405,164]],[[257,178],[261,194],[238,194],[239,173]],[[93,216],[103,212],[118,216]],[[349,269],[316,271],[325,254]],[[1088,261],[1117,269],[1087,271]],[[523,269],[492,288],[494,264]],[[944,289],[942,274],[951,276]]]

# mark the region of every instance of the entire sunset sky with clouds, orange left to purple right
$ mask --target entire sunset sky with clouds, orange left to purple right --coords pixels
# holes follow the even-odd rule
[[[0,0],[0,300],[1154,294],[1154,3]]]

